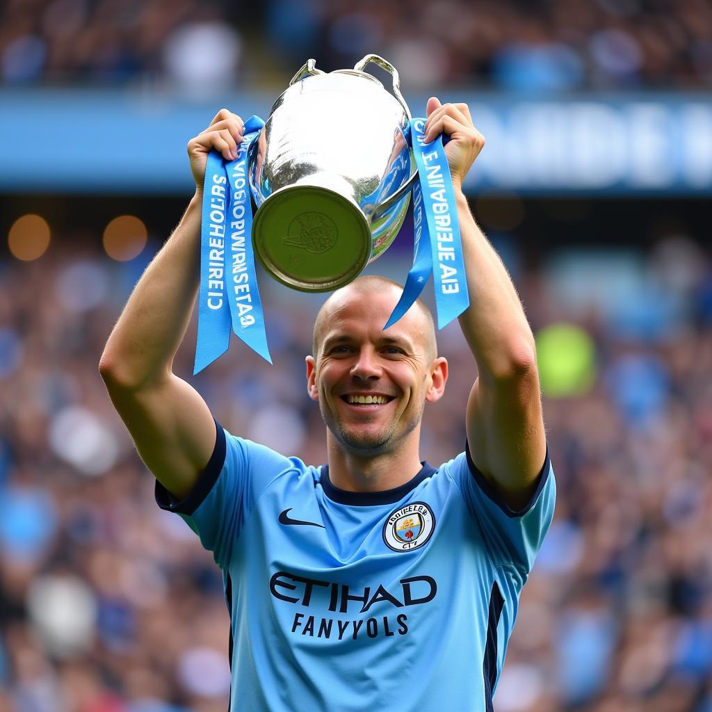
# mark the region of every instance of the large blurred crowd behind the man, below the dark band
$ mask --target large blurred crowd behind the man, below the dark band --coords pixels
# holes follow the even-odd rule
[[[0,710],[224,712],[219,571],[155,505],[98,375],[156,245],[117,263],[71,238],[0,257]],[[509,263],[542,347],[558,500],[495,708],[712,712],[712,263],[686,236],[598,259]],[[323,297],[269,282],[275,365],[233,344],[192,382],[232,432],[319,464],[303,357]],[[552,352],[553,325],[584,342]],[[451,380],[422,439],[435,465],[461,449],[474,374],[456,325],[439,346]],[[184,377],[193,348],[191,328]]]

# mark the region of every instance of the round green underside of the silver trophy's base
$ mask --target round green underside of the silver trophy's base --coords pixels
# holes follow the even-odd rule
[[[353,281],[371,256],[372,235],[356,204],[328,188],[288,186],[258,208],[255,252],[277,281],[326,292]]]

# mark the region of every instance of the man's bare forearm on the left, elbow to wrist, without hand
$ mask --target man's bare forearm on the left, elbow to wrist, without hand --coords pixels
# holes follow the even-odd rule
[[[105,379],[138,388],[167,376],[199,286],[199,195],[135,286],[104,349]]]

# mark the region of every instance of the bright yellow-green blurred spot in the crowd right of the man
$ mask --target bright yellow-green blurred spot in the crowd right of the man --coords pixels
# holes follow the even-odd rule
[[[573,324],[552,324],[536,335],[541,388],[548,398],[582,396],[596,379],[592,338]]]

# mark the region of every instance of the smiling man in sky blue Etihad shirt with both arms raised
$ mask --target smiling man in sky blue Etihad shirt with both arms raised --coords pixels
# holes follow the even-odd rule
[[[423,409],[444,392],[427,308],[383,330],[401,288],[360,278],[328,298],[306,359],[328,464],[230,434],[172,372],[198,289],[206,156],[234,157],[221,110],[188,145],[196,196],[137,284],[100,364],[110,397],[179,513],[223,572],[231,710],[486,712],[522,587],[553,516],[534,342],[515,288],[461,191],[483,145],[464,104],[427,106],[450,137],[477,365],[467,443],[420,459]]]

